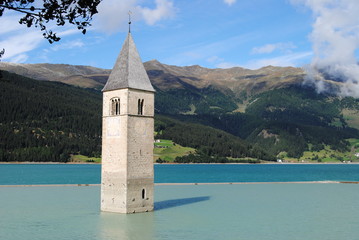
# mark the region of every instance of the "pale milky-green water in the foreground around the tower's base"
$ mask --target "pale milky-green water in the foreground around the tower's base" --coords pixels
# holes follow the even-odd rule
[[[99,211],[99,187],[0,187],[2,240],[357,240],[359,184],[156,186],[151,213]]]

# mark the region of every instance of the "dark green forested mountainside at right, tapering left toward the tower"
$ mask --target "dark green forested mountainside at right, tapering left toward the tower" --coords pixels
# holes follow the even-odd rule
[[[271,156],[285,152],[299,158],[304,151],[325,146],[340,152],[349,150],[349,138],[359,131],[348,126],[343,110],[356,111],[359,101],[317,94],[311,88],[291,86],[248,99],[246,111],[226,114],[176,115],[177,119],[221,129],[260,147]]]

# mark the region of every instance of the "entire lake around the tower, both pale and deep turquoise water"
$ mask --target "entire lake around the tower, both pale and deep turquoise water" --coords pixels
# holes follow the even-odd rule
[[[99,186],[0,187],[4,240],[357,240],[358,165],[156,165],[155,211],[104,213]],[[0,184],[97,184],[99,165],[0,165]]]

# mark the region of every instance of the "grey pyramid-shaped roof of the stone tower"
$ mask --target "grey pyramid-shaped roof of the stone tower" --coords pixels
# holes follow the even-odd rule
[[[102,91],[133,88],[154,92],[145,67],[141,61],[131,33],[122,46],[120,55]]]

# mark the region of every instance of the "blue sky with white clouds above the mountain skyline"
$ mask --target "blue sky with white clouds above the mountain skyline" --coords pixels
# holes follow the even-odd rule
[[[356,0],[345,1],[358,7]],[[54,26],[62,38],[54,44],[42,39],[38,29],[19,25],[19,17],[7,12],[0,18],[0,48],[6,49],[2,59],[6,62],[109,69],[126,38],[127,12],[131,10],[131,32],[143,61],[157,59],[170,65],[208,68],[298,67],[326,58],[316,52],[318,44],[326,41],[316,37],[315,30],[322,29],[316,24],[326,13],[341,16],[343,12],[336,9],[348,8],[333,2],[343,1],[104,0],[86,35],[72,27]],[[356,16],[357,12],[353,19]],[[357,24],[348,21],[343,24]],[[358,29],[352,31],[354,49],[348,54],[356,56]]]

